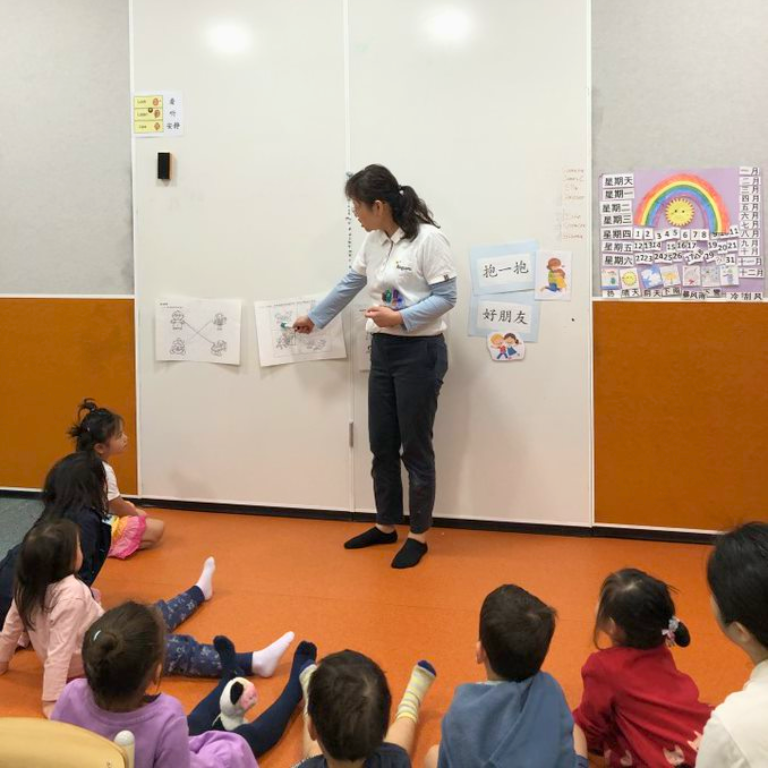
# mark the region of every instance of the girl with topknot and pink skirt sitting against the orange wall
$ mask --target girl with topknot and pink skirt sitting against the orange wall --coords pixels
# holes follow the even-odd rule
[[[112,515],[112,546],[110,557],[124,560],[139,549],[150,549],[160,543],[165,531],[162,520],[151,518],[135,504],[120,495],[115,470],[109,463],[128,445],[125,422],[108,408],[100,408],[86,398],[77,407],[77,421],[68,430],[78,451],[91,452],[104,464],[107,484],[107,504]]]

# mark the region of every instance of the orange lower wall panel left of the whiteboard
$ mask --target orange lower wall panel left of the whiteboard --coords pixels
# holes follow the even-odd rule
[[[133,300],[0,297],[0,328],[0,486],[40,488],[92,397],[125,419],[132,440],[114,467],[136,493]]]

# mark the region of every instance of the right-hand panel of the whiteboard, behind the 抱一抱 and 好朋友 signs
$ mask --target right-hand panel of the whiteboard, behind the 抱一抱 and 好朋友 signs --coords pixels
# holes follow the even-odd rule
[[[352,166],[382,162],[412,185],[460,267],[435,429],[435,515],[589,524],[589,242],[561,244],[553,232],[563,170],[589,169],[588,3],[444,7],[352,2],[350,14]],[[455,39],[462,13],[464,42]],[[370,88],[382,81],[397,84],[383,100]],[[574,251],[573,299],[544,303],[524,362],[493,364],[485,339],[466,332],[469,249],[528,238]],[[358,375],[355,500],[372,510],[366,418]]]

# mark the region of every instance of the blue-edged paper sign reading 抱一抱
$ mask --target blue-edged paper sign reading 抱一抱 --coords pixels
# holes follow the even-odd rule
[[[474,294],[531,290],[537,249],[535,240],[472,248],[469,260]]]

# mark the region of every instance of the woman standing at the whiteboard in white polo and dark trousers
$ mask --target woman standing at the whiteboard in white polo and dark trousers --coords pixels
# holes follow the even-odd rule
[[[367,286],[373,334],[368,377],[368,435],[373,454],[376,525],[347,541],[362,549],[397,541],[403,521],[402,459],[408,470],[411,530],[392,561],[412,568],[427,553],[435,506],[432,430],[448,370],[443,315],[456,304],[456,267],[448,239],[426,203],[381,165],[351,176],[344,191],[368,232],[352,267],[306,317],[298,333],[323,328]]]

